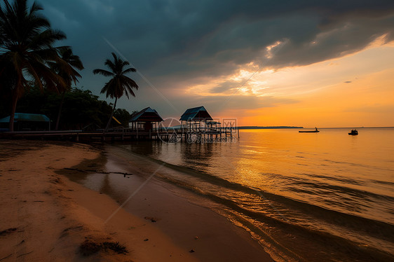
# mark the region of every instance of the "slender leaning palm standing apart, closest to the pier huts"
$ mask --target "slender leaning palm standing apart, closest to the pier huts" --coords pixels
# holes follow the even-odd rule
[[[112,53],[114,57],[114,61],[107,59],[105,60],[104,64],[109,67],[111,71],[107,71],[104,69],[94,69],[93,74],[102,74],[103,76],[111,76],[111,80],[105,83],[104,88],[102,88],[101,93],[106,94],[107,97],[111,97],[112,99],[115,98],[114,107],[112,108],[111,117],[108,120],[107,126],[105,127],[104,132],[107,132],[109,124],[111,123],[112,116],[114,116],[114,110],[116,108],[116,102],[118,98],[122,97],[123,94],[126,95],[127,98],[128,94],[133,95],[135,97],[135,93],[133,92],[133,88],[136,90],[138,89],[137,83],[125,74],[129,72],[135,72],[135,68],[128,68],[124,69],[125,66],[128,66],[130,63],[127,61],[123,61],[120,57],[117,57],[115,53]]]

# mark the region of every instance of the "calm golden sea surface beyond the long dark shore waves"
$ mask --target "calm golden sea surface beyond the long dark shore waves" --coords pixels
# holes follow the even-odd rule
[[[350,214],[388,221],[388,203],[376,195],[394,197],[388,181],[394,172],[393,129],[243,130],[237,143],[168,144],[133,142],[125,148],[173,165],[226,179],[261,191]],[[391,152],[388,154],[388,152]],[[365,210],[362,192],[375,195]],[[345,200],[345,201],[344,201]],[[380,206],[380,207],[379,207]],[[362,211],[361,211],[362,210]]]

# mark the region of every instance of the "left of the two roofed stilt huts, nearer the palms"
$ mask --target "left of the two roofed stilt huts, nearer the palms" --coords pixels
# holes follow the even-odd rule
[[[131,116],[129,126],[132,132],[151,133],[161,129],[162,121],[163,118],[161,118],[155,109],[147,107]]]

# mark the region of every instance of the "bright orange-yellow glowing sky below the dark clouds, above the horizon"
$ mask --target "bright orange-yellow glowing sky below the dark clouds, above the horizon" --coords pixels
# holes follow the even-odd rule
[[[394,42],[383,44],[382,38],[358,53],[304,67],[259,71],[247,64],[232,76],[189,86],[186,94],[228,97],[215,116],[237,118],[238,125],[394,126]],[[243,86],[210,92],[218,83],[242,79]],[[250,109],[247,97],[261,106]],[[237,101],[231,109],[229,102]]]

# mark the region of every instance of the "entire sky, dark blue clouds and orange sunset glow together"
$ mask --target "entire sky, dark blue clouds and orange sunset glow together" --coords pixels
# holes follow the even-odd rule
[[[40,0],[85,69],[111,52],[139,85],[117,106],[238,125],[394,126],[394,1]],[[104,95],[100,95],[106,99]],[[111,99],[107,99],[111,102]]]

